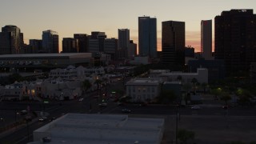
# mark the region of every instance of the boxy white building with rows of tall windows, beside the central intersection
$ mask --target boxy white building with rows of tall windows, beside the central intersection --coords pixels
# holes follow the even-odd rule
[[[126,82],[126,96],[131,102],[147,102],[158,97],[161,92],[161,79],[135,78]]]

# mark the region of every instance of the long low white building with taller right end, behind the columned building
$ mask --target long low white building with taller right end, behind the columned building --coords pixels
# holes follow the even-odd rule
[[[208,83],[208,70],[200,68],[197,73],[183,73],[180,71],[173,71],[170,73],[160,74],[164,82],[177,81],[178,76],[182,77],[182,82],[190,83],[193,78],[196,78],[199,83]]]

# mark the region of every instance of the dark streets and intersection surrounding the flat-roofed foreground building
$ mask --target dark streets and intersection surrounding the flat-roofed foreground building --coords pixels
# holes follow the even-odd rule
[[[110,96],[113,90],[122,88],[122,82],[108,85],[107,95]],[[105,87],[102,88],[101,94],[105,93]],[[202,104],[200,110],[192,110],[191,106],[168,106],[168,105],[148,105],[140,106],[139,104],[126,103],[118,106],[114,102],[114,98],[107,97],[104,102],[107,106],[98,106],[102,103],[102,98],[95,98],[98,92],[86,93],[80,98],[62,101],[62,102],[1,102],[0,114],[5,117],[5,121],[0,126],[8,125],[12,122],[24,118],[22,115],[16,115],[21,110],[26,110],[30,106],[30,110],[40,112],[44,110],[48,119],[45,122],[38,122],[38,118],[34,118],[32,122],[24,123],[9,130],[8,133],[0,134],[0,143],[25,144],[33,141],[33,130],[50,122],[50,118],[59,118],[67,113],[82,114],[124,114],[123,109],[131,110],[130,117],[139,118],[165,118],[166,128],[164,140],[162,143],[171,143],[175,139],[175,123],[178,112],[178,128],[194,130],[196,134],[195,141],[198,143],[225,143],[231,140],[255,141],[252,136],[255,134],[256,127],[254,106],[235,106],[223,109],[221,104]],[[38,113],[39,114],[39,113]],[[250,132],[246,134],[246,132]],[[238,136],[238,134],[240,134]],[[256,135],[256,134],[255,134]],[[221,141],[221,142],[220,142]]]

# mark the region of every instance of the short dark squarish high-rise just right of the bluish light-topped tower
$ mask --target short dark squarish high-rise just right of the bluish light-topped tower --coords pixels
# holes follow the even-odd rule
[[[78,53],[78,39],[63,38],[62,53]]]

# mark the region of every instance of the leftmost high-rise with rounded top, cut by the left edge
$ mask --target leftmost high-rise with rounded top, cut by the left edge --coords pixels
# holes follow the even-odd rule
[[[4,26],[0,33],[0,54],[20,54],[22,52],[23,34],[17,26]]]

